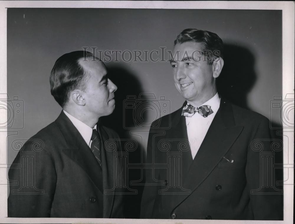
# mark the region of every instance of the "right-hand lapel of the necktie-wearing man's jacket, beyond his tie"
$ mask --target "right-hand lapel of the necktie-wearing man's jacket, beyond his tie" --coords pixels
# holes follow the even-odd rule
[[[104,191],[112,190],[114,185],[114,153],[113,151],[106,150],[104,146],[106,140],[109,139],[109,135],[104,130],[104,128],[98,126],[98,132],[102,140],[101,144],[101,159],[102,159],[102,172],[103,172],[103,189]],[[103,217],[110,218],[112,213],[112,208],[114,204],[114,193],[105,194],[104,192],[104,207],[103,207]]]

